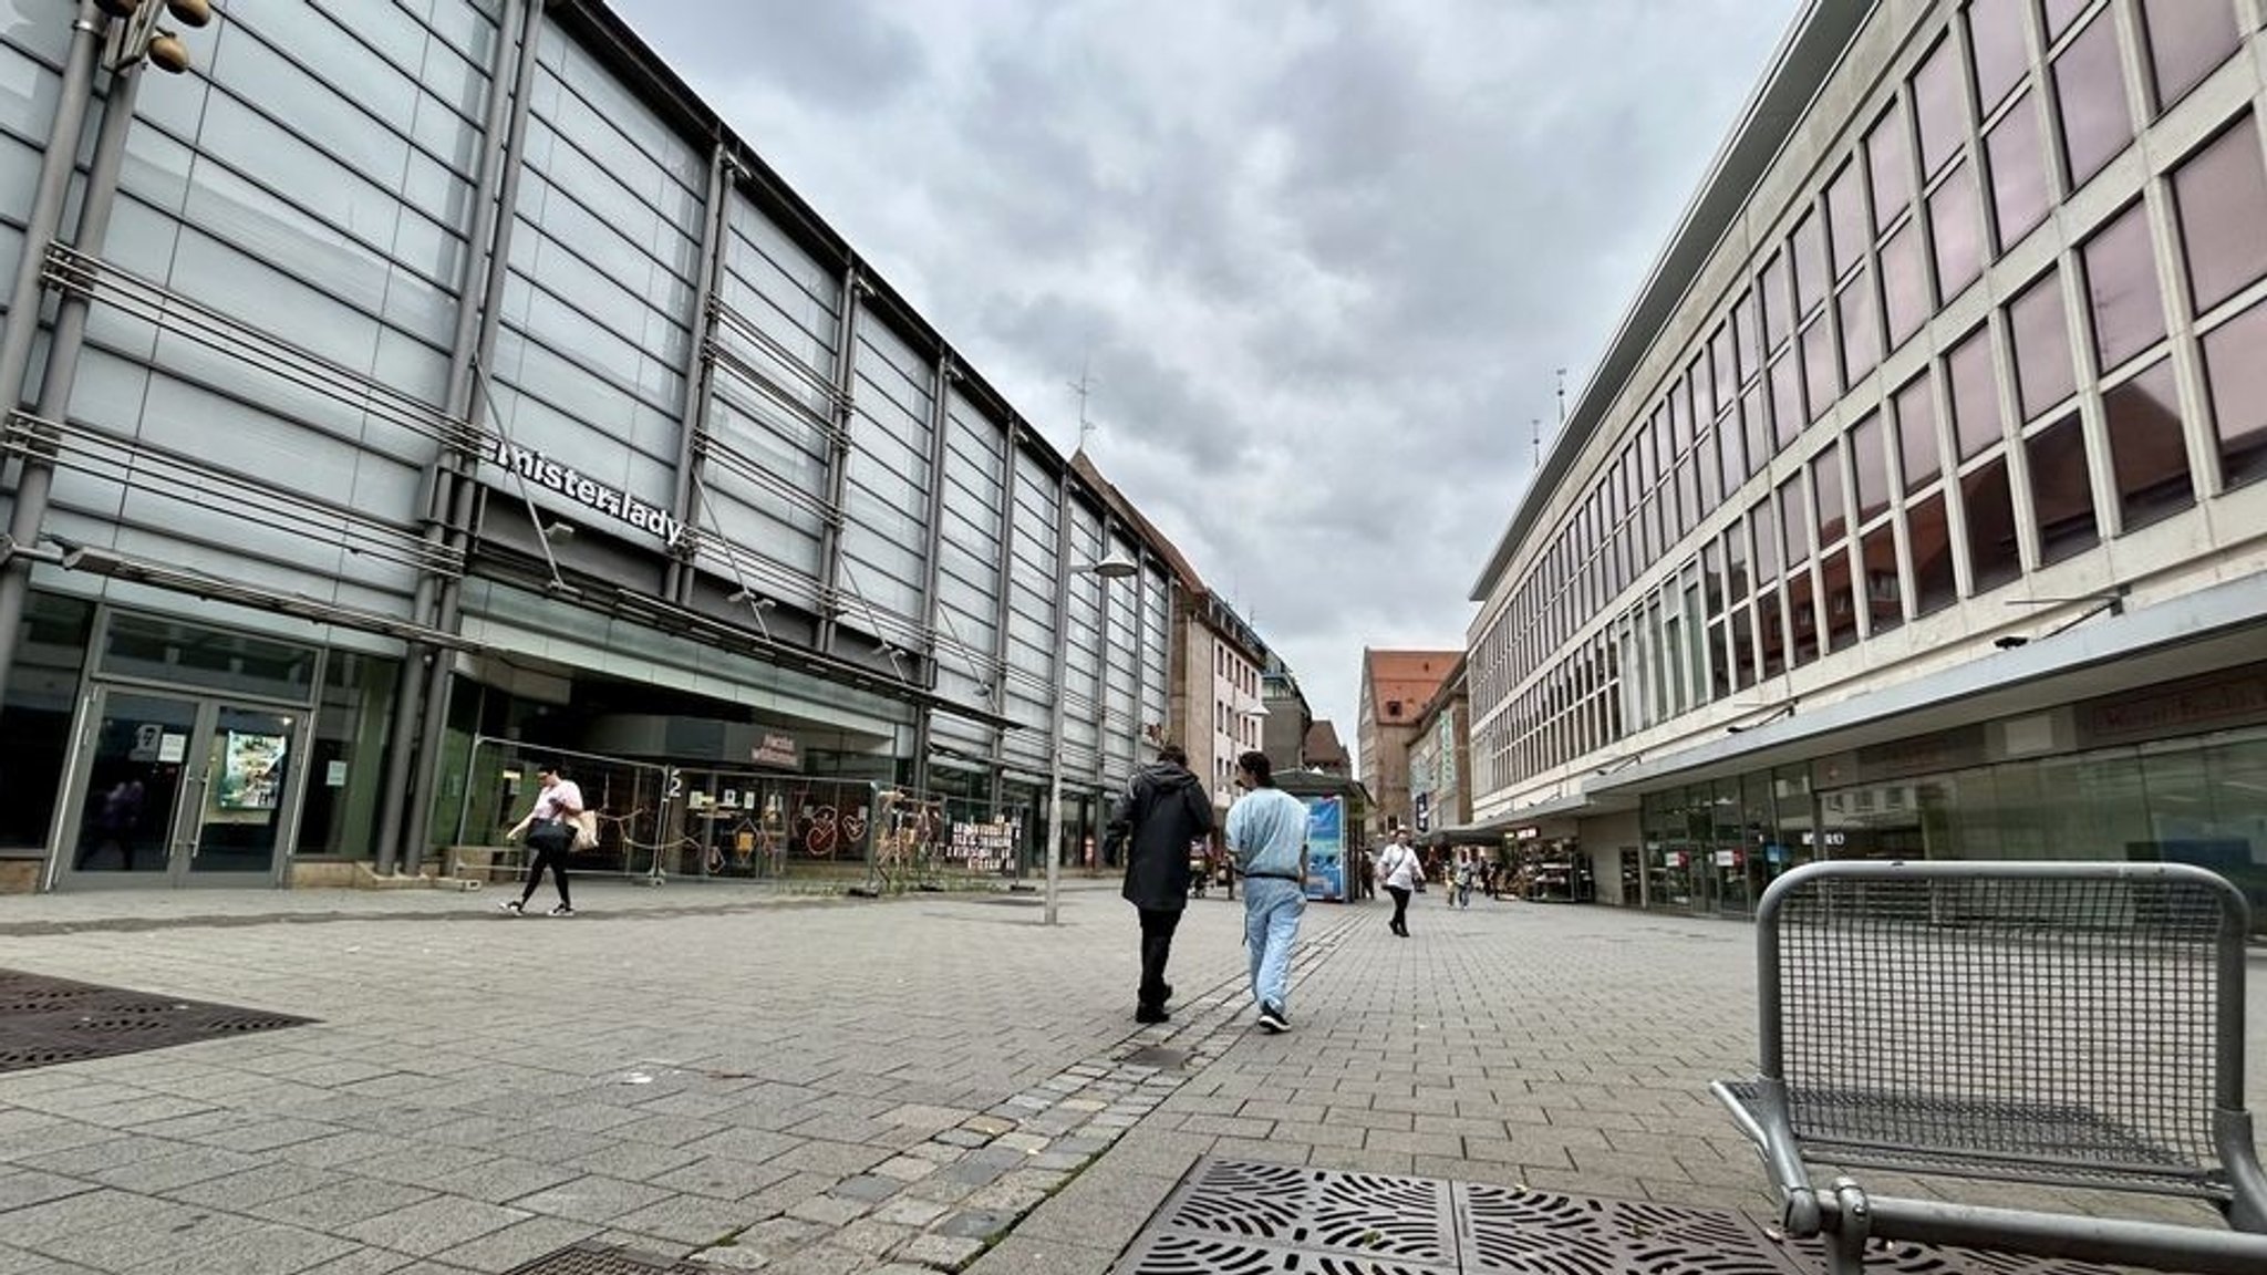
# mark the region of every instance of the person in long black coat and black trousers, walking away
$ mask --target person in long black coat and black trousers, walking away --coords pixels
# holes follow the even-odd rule
[[[1213,835],[1213,803],[1188,771],[1179,744],[1156,751],[1111,808],[1109,839],[1124,844],[1127,885],[1122,894],[1140,912],[1140,991],[1134,1021],[1163,1023],[1172,985],[1165,962],[1172,932],[1188,907],[1188,844]]]

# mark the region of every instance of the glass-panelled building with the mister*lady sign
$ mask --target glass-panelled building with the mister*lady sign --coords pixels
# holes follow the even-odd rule
[[[537,751],[628,785],[626,869],[687,776],[750,824],[825,780],[846,839],[918,794],[1013,869],[1061,767],[1090,833],[1168,717],[1154,533],[603,5],[231,5],[193,75],[93,73],[109,234],[82,166],[32,243],[75,14],[0,25],[27,397],[86,306],[5,438],[0,885],[431,864]]]

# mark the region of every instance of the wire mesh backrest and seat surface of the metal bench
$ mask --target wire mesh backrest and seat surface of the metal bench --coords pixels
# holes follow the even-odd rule
[[[1784,1080],[1820,1159],[2208,1191],[2226,937],[2208,887],[1816,878],[1777,937]]]

